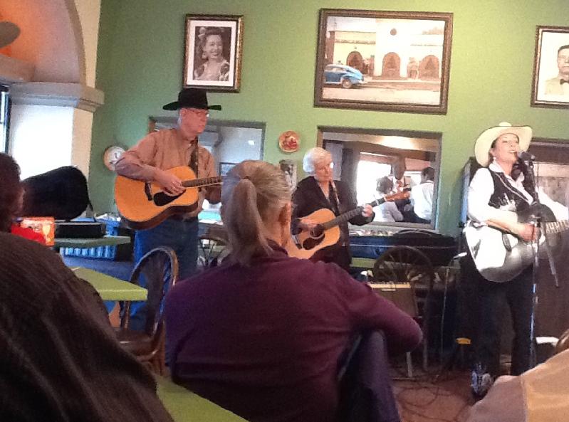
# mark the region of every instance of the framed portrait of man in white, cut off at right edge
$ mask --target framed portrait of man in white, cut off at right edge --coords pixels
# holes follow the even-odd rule
[[[538,26],[532,107],[569,107],[569,27]]]

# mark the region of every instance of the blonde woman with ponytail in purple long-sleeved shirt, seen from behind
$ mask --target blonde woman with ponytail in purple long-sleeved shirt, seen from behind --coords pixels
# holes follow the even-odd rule
[[[334,421],[350,338],[382,329],[404,352],[421,330],[338,265],[288,257],[291,189],[277,167],[238,164],[221,204],[231,255],[167,295],[172,379],[250,422]]]

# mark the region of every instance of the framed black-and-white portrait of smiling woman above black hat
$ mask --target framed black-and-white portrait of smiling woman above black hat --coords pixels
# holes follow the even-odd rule
[[[243,16],[186,15],[184,88],[238,93]]]

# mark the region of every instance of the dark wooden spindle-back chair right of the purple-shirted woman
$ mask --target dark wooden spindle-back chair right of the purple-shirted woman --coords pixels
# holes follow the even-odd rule
[[[434,270],[427,255],[412,246],[387,249],[375,261],[372,288],[395,302],[421,326],[423,331],[423,370],[427,371],[429,320]],[[407,375],[413,377],[411,353],[407,352]]]

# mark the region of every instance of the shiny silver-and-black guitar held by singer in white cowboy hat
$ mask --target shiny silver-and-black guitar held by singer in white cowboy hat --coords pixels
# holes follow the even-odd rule
[[[504,211],[506,213],[507,211]],[[557,235],[569,229],[569,221],[555,221],[553,211],[547,206],[533,204],[527,210],[509,213],[512,221],[528,223],[541,217],[542,245],[547,239],[550,248],[555,248],[560,242]],[[505,214],[506,215],[506,214]],[[486,280],[503,283],[516,277],[533,263],[533,242],[523,241],[518,236],[498,227],[475,226],[471,221],[464,228],[466,244],[476,265],[476,270]],[[546,237],[547,236],[547,237]],[[545,258],[545,247],[540,248],[540,258]]]

